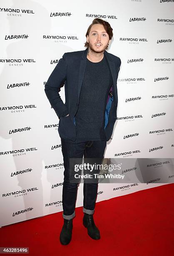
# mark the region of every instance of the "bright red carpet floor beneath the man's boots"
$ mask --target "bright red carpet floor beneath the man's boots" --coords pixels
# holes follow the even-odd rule
[[[82,207],[76,208],[67,246],[59,242],[62,212],[0,228],[0,246],[29,247],[26,255],[38,256],[174,255],[174,184],[98,202],[94,220],[100,240],[87,235],[82,217]]]

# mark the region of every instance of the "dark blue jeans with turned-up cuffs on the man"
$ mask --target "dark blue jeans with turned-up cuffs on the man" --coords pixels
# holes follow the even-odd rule
[[[64,182],[62,191],[63,218],[70,220],[75,217],[75,203],[77,198],[78,183],[70,182],[70,158],[97,158],[102,162],[107,141],[70,141],[61,138],[62,154],[64,161]],[[80,164],[81,164],[80,163]],[[97,199],[98,183],[83,184],[83,212],[94,213]]]

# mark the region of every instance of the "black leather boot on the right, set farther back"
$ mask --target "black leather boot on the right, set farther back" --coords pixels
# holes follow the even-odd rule
[[[83,216],[83,225],[87,228],[88,235],[95,240],[100,239],[99,229],[96,227],[93,219],[93,214],[89,215],[87,213]]]

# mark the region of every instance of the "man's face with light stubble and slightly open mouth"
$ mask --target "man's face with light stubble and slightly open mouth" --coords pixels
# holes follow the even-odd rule
[[[104,29],[102,24],[94,24],[87,35],[87,43],[91,51],[95,53],[101,53],[107,48],[109,35]]]

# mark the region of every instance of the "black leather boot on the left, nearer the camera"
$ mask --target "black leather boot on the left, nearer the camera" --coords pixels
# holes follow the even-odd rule
[[[62,245],[67,245],[70,243],[72,237],[72,219],[71,220],[65,220],[62,227],[62,230],[60,232],[60,243]]]

